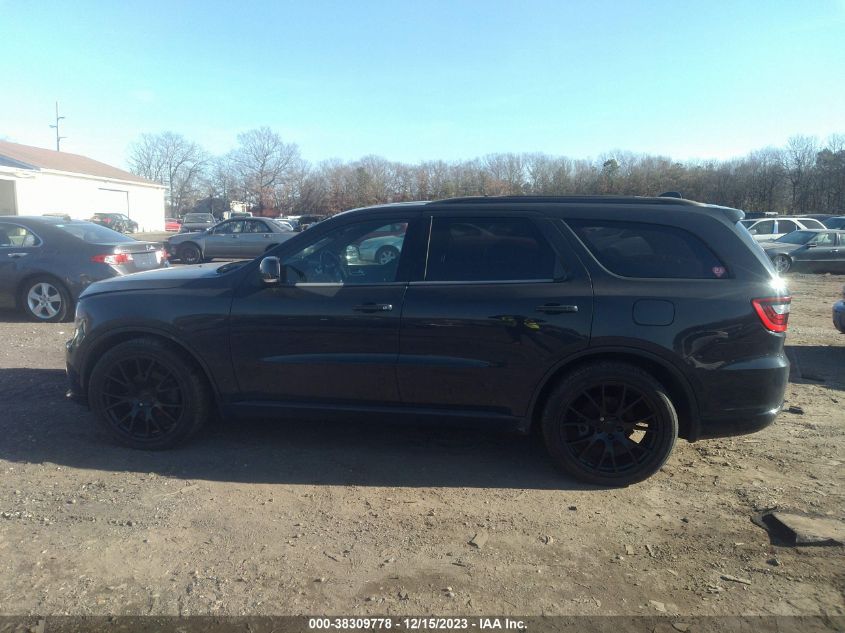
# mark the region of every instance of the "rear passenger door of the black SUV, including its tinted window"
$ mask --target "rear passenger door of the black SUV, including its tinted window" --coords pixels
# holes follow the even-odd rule
[[[456,212],[429,225],[402,312],[402,402],[522,417],[546,373],[589,342],[586,271],[542,217]]]

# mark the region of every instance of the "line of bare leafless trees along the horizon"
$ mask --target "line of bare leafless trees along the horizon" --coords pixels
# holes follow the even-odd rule
[[[685,198],[779,213],[845,214],[845,134],[794,136],[730,160],[676,161],[613,152],[595,160],[541,153],[490,154],[408,164],[380,156],[311,164],[295,143],[263,127],[213,156],[174,132],[131,146],[133,173],[169,188],[168,213],[211,211],[233,201],[258,215],[331,215],[385,202],[455,196],[619,194],[678,191]]]

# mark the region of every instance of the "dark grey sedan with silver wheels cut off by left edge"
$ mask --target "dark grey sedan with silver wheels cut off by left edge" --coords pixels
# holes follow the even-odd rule
[[[33,321],[66,321],[91,283],[166,265],[161,244],[93,222],[0,217],[0,305]]]

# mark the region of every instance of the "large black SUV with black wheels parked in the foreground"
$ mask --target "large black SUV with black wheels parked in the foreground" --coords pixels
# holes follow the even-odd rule
[[[790,298],[742,218],[635,197],[348,211],[250,262],[92,285],[70,395],[137,448],[215,412],[472,422],[537,429],[567,473],[630,484],[679,436],[780,410]],[[357,256],[379,240],[399,256]]]

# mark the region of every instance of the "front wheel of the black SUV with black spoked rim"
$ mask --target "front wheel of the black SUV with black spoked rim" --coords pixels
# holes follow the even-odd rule
[[[152,338],[120,343],[97,361],[88,401],[118,443],[164,450],[187,441],[211,414],[211,390],[202,372]]]

